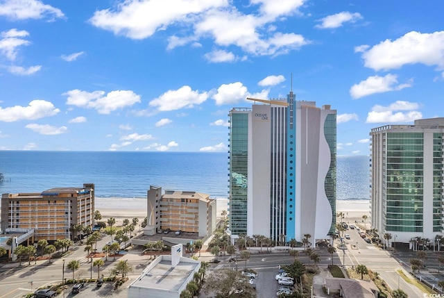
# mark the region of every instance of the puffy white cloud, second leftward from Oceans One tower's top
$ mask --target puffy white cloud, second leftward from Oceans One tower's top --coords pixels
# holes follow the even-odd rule
[[[150,106],[158,107],[158,110],[179,110],[180,108],[193,108],[202,104],[208,98],[207,92],[193,91],[187,85],[178,90],[168,90],[164,94],[150,101]]]

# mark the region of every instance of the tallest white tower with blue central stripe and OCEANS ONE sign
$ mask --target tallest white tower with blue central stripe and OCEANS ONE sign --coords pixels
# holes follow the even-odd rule
[[[228,115],[230,231],[275,243],[308,234],[314,246],[335,231],[336,110],[293,92],[254,101]]]

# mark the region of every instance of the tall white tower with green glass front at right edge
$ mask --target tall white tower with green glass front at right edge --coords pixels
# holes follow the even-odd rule
[[[433,243],[443,232],[444,118],[381,126],[370,136],[372,227],[381,239],[390,234],[391,245]]]

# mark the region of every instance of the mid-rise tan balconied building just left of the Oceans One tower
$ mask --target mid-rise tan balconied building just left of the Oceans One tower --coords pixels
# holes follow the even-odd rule
[[[147,197],[146,233],[169,230],[205,237],[216,229],[216,201],[210,194],[165,190],[162,195],[162,188],[151,185]]]

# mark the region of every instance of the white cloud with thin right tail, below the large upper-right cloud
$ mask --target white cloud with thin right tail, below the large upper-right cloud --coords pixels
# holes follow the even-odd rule
[[[366,81],[361,81],[359,84],[352,85],[352,88],[350,88],[350,95],[353,99],[359,99],[370,94],[402,90],[407,87],[411,87],[411,83],[398,85],[398,76],[396,74],[369,76]]]

